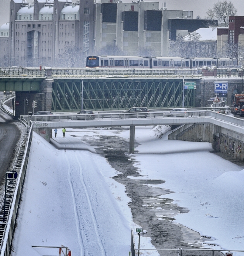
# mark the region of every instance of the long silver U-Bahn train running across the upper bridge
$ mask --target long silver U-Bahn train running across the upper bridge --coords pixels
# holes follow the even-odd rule
[[[199,67],[233,67],[238,66],[237,59],[230,58],[179,58],[179,57],[140,57],[140,56],[88,56],[87,68],[136,68],[163,69]]]

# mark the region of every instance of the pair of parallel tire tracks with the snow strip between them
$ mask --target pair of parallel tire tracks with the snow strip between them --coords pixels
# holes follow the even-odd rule
[[[73,154],[75,153],[75,154]],[[76,152],[69,156],[65,153],[69,166],[68,179],[72,190],[73,204],[76,215],[76,226],[79,234],[83,255],[103,255],[105,250],[97,229],[96,217],[89,198],[87,186],[83,179],[83,170]],[[72,170],[72,173],[71,173]]]

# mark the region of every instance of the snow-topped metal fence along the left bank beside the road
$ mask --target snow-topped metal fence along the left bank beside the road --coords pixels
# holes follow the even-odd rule
[[[24,122],[26,123],[26,122]],[[10,254],[11,242],[13,239],[14,226],[18,215],[18,207],[20,205],[20,197],[23,188],[25,172],[28,164],[28,156],[32,140],[32,122],[30,129],[25,131],[22,138],[21,146],[14,163],[13,171],[17,172],[17,179],[7,184],[6,192],[6,216],[4,215],[4,204],[1,203],[0,208],[0,256],[8,256]]]

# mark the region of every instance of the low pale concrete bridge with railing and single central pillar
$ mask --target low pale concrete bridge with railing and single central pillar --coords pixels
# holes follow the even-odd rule
[[[24,116],[27,119],[27,116]],[[244,142],[244,120],[233,116],[215,113],[211,110],[188,111],[186,113],[147,112],[147,113],[97,113],[97,114],[54,114],[31,116],[33,128],[50,141],[54,128],[85,128],[130,126],[130,152],[134,152],[135,126],[156,125],[198,125],[211,124],[213,133],[225,133]]]

